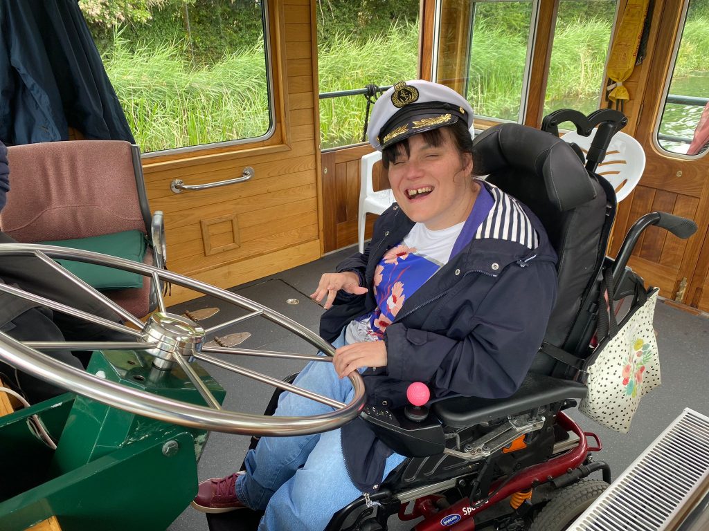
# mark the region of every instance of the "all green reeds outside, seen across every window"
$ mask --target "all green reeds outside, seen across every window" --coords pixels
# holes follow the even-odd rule
[[[595,109],[608,49],[607,23],[557,28],[545,110]],[[709,20],[686,25],[675,78],[709,67]],[[476,25],[469,99],[476,114],[516,120],[526,35]],[[340,35],[318,50],[320,92],[393,84],[416,76],[418,25],[393,25],[362,42]],[[144,152],[263,135],[269,127],[264,52],[255,45],[213,64],[192,64],[182,42],[113,38],[104,64]],[[320,100],[322,148],[360,142],[364,96]]]

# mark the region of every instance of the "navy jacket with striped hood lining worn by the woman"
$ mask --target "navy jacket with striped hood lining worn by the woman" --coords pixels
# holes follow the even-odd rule
[[[403,406],[408,385],[417,381],[428,384],[436,398],[505,398],[527,374],[556,298],[557,256],[541,222],[525,205],[484,185],[495,205],[478,234],[406,298],[386,327],[387,366],[363,375],[368,404]],[[538,234],[535,244],[530,244],[529,226]],[[338,295],[320,320],[323,338],[334,341],[352,319],[372,312],[374,268],[411,227],[395,203],[377,219],[364,253],[337,266],[337,271],[359,273],[369,292]],[[524,227],[527,234],[520,231]],[[342,451],[357,488],[376,492],[391,450],[356,418],[342,428]]]

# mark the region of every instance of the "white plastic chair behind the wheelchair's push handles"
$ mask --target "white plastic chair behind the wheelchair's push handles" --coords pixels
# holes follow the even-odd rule
[[[578,145],[584,154],[588,153],[593,137],[596,136],[597,129],[593,130],[588,137],[582,137],[576,131],[571,131],[562,136],[564,142],[572,142]],[[613,188],[615,188],[615,199],[620,202],[635,188],[635,185],[642,177],[645,169],[645,152],[635,138],[626,135],[624,132],[617,132],[610,139],[608,150],[605,152],[605,159],[598,165],[596,173],[603,176]]]

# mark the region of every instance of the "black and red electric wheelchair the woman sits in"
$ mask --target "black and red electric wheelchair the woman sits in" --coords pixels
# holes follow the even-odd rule
[[[600,126],[589,152],[549,134],[565,121],[585,136]],[[605,256],[615,191],[593,170],[626,123],[614,110],[588,117],[559,110],[545,118],[545,130],[503,124],[476,137],[475,173],[525,202],[559,256],[557,302],[544,342],[508,399],[455,396],[423,411],[413,404],[395,411],[365,407],[362,417],[370,428],[408,459],[376,494],[335,513],[328,531],[383,531],[393,515],[423,517],[412,527],[416,531],[561,531],[610,484],[610,467],[592,456],[601,450],[600,440],[563,412],[586,396],[585,369],[598,343],[598,316],[607,311],[603,270],[612,274],[608,288],[614,298],[630,300],[630,314],[644,285],[625,265],[642,230],[657,224],[682,238],[696,230],[691,221],[654,212],[631,229],[617,261]],[[266,413],[273,413],[278,394]],[[252,438],[251,447],[257,442]],[[596,471],[602,480],[586,479]],[[230,528],[233,517],[208,515],[208,520],[211,530],[220,531]]]

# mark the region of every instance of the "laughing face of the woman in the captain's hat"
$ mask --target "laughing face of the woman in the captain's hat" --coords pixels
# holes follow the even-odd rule
[[[389,183],[404,213],[430,230],[446,229],[464,221],[476,188],[471,181],[472,157],[461,154],[450,132],[442,130],[440,146],[423,135],[409,137],[409,152],[401,149],[389,164]]]

